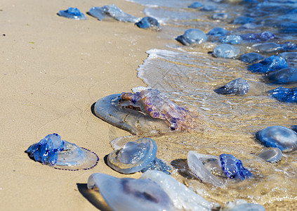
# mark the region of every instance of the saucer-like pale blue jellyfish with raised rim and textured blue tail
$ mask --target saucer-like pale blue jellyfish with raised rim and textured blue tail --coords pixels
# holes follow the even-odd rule
[[[107,165],[123,174],[159,170],[169,174],[171,167],[156,158],[157,145],[154,140],[141,138],[129,141],[123,148],[113,151],[107,156]]]

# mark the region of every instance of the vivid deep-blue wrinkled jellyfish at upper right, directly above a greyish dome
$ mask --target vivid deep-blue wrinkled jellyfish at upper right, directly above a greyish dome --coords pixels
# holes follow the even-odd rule
[[[281,56],[270,56],[265,60],[261,60],[260,63],[249,65],[248,70],[251,72],[271,72],[287,67],[286,60]]]

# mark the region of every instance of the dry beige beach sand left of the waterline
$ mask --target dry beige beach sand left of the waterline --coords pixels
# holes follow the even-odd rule
[[[127,177],[105,165],[110,140],[128,135],[91,113],[95,101],[143,86],[138,65],[161,46],[158,33],[133,23],[70,20],[56,13],[70,6],[116,4],[143,17],[126,1],[2,0],[0,210],[97,210],[86,181],[95,172]],[[55,170],[29,159],[25,150],[47,134],[94,151],[92,170]],[[140,177],[140,174],[128,175]],[[88,199],[87,199],[88,198]],[[103,209],[104,210],[104,209]]]

